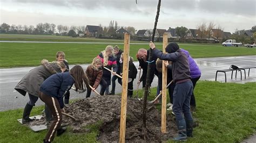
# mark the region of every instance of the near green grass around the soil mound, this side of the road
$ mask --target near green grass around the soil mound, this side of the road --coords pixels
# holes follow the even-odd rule
[[[199,127],[194,128],[194,137],[188,142],[240,142],[255,132],[255,86],[256,83],[199,81],[195,90],[197,110],[193,115]],[[156,89],[152,90],[151,100],[153,95]],[[42,106],[33,108],[32,115],[39,115],[42,110]],[[19,124],[17,119],[22,112],[22,109],[0,112],[0,142],[42,142],[46,131],[35,133]],[[96,142],[98,126],[87,126],[91,128],[88,134],[64,133],[55,142]]]

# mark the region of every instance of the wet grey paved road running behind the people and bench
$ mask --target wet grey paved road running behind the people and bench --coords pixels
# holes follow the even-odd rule
[[[200,80],[215,81],[215,72],[219,69],[227,69],[230,65],[236,65],[238,67],[254,66],[256,67],[256,55],[253,56],[232,56],[232,57],[221,57],[221,58],[198,58],[194,59],[200,70],[201,78]],[[134,62],[135,66],[138,68],[138,62]],[[81,65],[84,69],[87,65]],[[21,78],[28,73],[30,69],[34,67],[23,67],[23,68],[6,68],[0,69],[0,111],[12,110],[17,108],[23,108],[26,102],[28,102],[28,96],[23,97],[16,90],[14,90],[15,85],[21,80]],[[72,65],[70,66],[72,68]],[[227,82],[235,83],[246,83],[246,82],[256,82],[256,69],[251,69],[250,77],[248,77],[248,70],[246,70],[246,79],[244,78],[244,73],[242,71],[242,80],[240,80],[240,73],[238,73],[238,78],[231,80],[231,72],[227,72]],[[139,74],[139,72],[138,72]],[[157,86],[157,77],[154,78],[152,87]],[[138,81],[137,79],[133,82],[133,88],[136,90]],[[224,73],[219,73],[217,81],[225,82]],[[122,87],[116,82],[116,93],[122,91]],[[142,88],[142,85],[140,85]],[[111,86],[110,86],[111,89]],[[99,89],[97,89],[99,91]],[[77,94],[75,91],[71,90],[71,99],[75,98],[85,98],[85,93]],[[92,96],[94,93],[92,92]],[[36,105],[43,105],[43,102],[38,99]]]

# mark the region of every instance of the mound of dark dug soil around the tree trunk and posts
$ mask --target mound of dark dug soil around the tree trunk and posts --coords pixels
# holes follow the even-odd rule
[[[98,121],[100,142],[115,142],[119,140],[120,125],[120,96],[98,96],[79,101],[70,105],[66,113],[77,118],[77,121],[65,118],[71,124],[71,132],[87,132],[86,125],[95,124]],[[128,98],[126,110],[126,142],[144,141],[140,134],[142,126],[143,104],[135,98]],[[166,117],[166,134],[161,133],[161,112],[156,108],[151,108],[146,115],[146,126],[153,134],[148,133],[147,141],[165,141],[173,138],[177,133],[177,127],[171,115]]]

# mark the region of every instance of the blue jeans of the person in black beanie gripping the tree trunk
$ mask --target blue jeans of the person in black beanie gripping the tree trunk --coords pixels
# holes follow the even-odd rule
[[[173,91],[172,110],[176,116],[176,120],[182,120],[183,114],[185,119],[193,120],[190,112],[190,98],[193,92],[193,84],[191,81],[176,84]]]

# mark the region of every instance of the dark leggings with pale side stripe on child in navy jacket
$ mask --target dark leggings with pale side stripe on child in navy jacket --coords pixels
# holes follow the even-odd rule
[[[62,111],[60,111],[57,98],[45,95],[43,92],[39,92],[39,98],[48,106],[53,116],[52,124],[45,135],[46,141],[53,141],[55,132],[60,128],[62,122]]]

